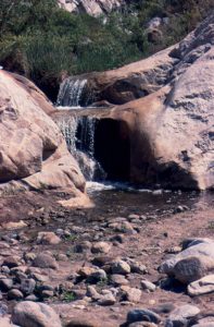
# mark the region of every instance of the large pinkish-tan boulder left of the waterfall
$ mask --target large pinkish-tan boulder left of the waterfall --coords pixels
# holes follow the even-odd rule
[[[23,189],[84,191],[78,165],[47,114],[51,111],[51,104],[33,83],[0,71],[1,189],[11,182]]]

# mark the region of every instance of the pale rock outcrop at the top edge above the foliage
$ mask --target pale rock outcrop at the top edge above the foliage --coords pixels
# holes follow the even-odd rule
[[[92,16],[109,13],[125,4],[126,0],[59,0],[70,12],[85,12]]]

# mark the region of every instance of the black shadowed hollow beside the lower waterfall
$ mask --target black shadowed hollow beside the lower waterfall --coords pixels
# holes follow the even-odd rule
[[[95,132],[95,158],[100,162],[110,181],[129,181],[130,137],[123,121],[101,119]]]

